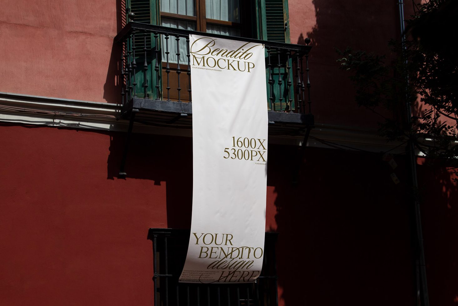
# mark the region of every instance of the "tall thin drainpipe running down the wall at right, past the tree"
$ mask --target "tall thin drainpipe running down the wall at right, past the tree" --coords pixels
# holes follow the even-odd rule
[[[399,7],[399,25],[401,28],[401,42],[405,42],[405,28],[404,28],[404,3],[403,0],[398,0]],[[409,80],[406,80],[409,84]],[[410,125],[412,123],[412,106],[408,99],[406,99],[406,110],[407,110],[407,123]],[[406,153],[409,160],[408,167],[410,168],[410,179],[413,195],[413,204],[415,212],[415,230],[416,230],[416,239],[417,239],[417,249],[415,256],[415,265],[416,265],[416,296],[417,296],[417,305],[429,306],[429,296],[428,296],[428,285],[426,283],[426,265],[425,265],[425,249],[423,247],[423,233],[421,231],[421,217],[420,217],[420,200],[418,197],[418,181],[417,181],[417,163],[414,150],[414,140],[409,139]]]

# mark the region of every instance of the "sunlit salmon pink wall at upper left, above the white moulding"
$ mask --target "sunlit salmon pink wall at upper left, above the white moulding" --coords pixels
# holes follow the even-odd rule
[[[120,1],[10,1],[0,10],[0,91],[117,103]]]

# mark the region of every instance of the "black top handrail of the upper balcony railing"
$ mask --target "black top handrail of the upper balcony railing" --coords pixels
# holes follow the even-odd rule
[[[146,32],[151,32],[151,33],[167,34],[167,35],[174,35],[174,36],[178,35],[181,37],[186,37],[189,34],[195,34],[195,35],[203,35],[203,36],[214,37],[214,38],[243,40],[244,42],[261,43],[261,44],[264,44],[266,47],[275,48],[275,49],[289,49],[297,53],[299,56],[309,54],[312,48],[312,46],[310,45],[298,45],[298,44],[293,44],[293,43],[278,43],[278,42],[253,39],[253,38],[234,37],[234,36],[227,36],[227,35],[222,35],[222,34],[213,34],[213,33],[199,32],[199,31],[192,31],[192,30],[177,29],[177,28],[172,28],[172,27],[156,26],[156,25],[141,23],[141,22],[136,22],[136,21],[130,21],[129,23],[127,23],[125,27],[123,27],[121,31],[118,33],[118,35],[114,37],[114,42],[121,43],[126,38],[128,38],[132,32],[136,32],[136,31],[146,31]]]

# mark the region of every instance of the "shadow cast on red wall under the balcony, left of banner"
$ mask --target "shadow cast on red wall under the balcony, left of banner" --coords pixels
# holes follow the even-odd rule
[[[107,161],[108,179],[118,176],[126,133],[114,133]],[[166,186],[167,226],[191,228],[192,139],[132,134],[125,165],[126,179],[151,180]],[[122,190],[120,190],[122,192]],[[154,194],[151,195],[154,197]],[[146,235],[147,229],[145,229]]]

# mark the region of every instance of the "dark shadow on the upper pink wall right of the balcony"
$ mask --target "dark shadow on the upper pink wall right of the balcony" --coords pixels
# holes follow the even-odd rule
[[[316,24],[310,32],[291,37],[291,42],[304,45],[304,38],[311,39],[309,63],[316,122],[376,128],[376,115],[357,107],[348,74],[338,69],[335,48],[352,46],[387,53],[389,39],[399,32],[396,2],[313,0],[312,4]],[[299,12],[292,11],[292,4],[289,8],[290,20],[299,21],[300,17],[294,17]]]

